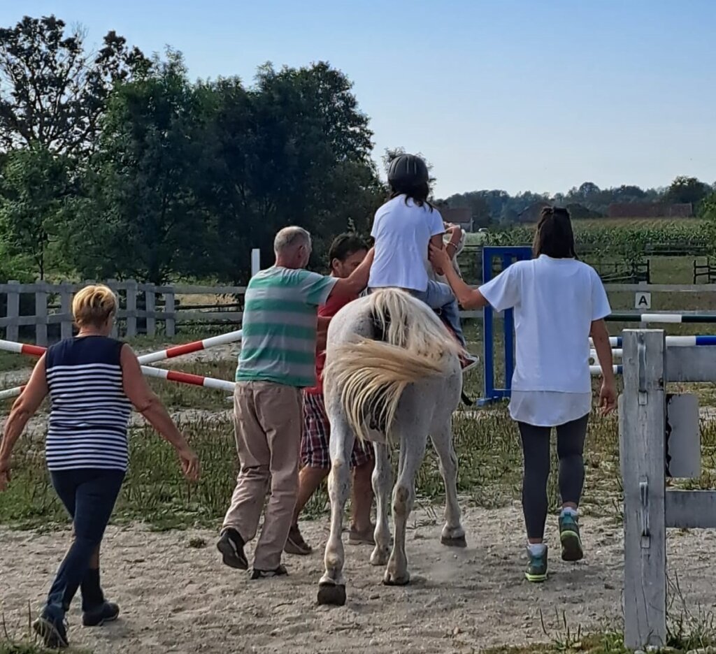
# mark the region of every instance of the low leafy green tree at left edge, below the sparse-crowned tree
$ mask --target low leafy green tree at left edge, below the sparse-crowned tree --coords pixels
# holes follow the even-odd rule
[[[72,160],[46,148],[24,148],[4,157],[0,225],[4,254],[30,263],[40,279],[52,260],[73,202]],[[56,262],[57,263],[57,262]]]

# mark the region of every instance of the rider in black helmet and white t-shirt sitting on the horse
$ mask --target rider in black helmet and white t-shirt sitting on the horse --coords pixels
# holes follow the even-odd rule
[[[430,280],[427,248],[442,245],[445,225],[440,212],[428,202],[430,175],[415,155],[400,155],[390,162],[391,198],[375,213],[371,236],[375,256],[370,268],[369,290],[402,288],[440,314],[465,348],[463,370],[477,363],[467,352],[460,326],[460,310],[450,286]]]

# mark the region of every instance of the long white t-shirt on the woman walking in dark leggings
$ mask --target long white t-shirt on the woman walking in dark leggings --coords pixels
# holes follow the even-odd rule
[[[515,310],[513,419],[556,426],[589,413],[589,332],[611,313],[596,270],[541,255],[513,263],[480,293],[495,311]]]

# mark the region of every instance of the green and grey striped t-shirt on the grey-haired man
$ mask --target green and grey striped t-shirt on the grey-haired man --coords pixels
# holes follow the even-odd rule
[[[337,278],[272,266],[251,278],[236,381],[316,384],[317,311]]]

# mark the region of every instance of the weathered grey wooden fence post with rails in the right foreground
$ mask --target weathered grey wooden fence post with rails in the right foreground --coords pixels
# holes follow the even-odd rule
[[[625,330],[619,444],[624,482],[624,641],[667,642],[666,530],[716,527],[716,490],[666,488],[700,476],[699,407],[668,382],[716,381],[716,346],[671,347],[658,329]]]

